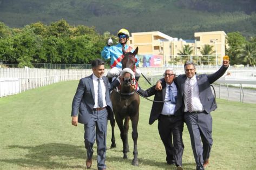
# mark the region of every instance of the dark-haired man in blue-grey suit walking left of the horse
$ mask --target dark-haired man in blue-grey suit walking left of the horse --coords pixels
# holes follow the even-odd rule
[[[108,79],[103,76],[104,62],[101,59],[91,63],[93,74],[82,78],[77,86],[72,103],[72,125],[84,124],[84,144],[87,149],[87,168],[91,167],[93,158],[93,145],[97,142],[97,167],[106,169],[106,136],[107,122],[114,119],[113,107],[110,101],[109,90],[119,85],[119,81],[113,81],[110,85]],[[77,113],[78,117],[77,117]],[[96,129],[96,131],[95,131]],[[96,135],[96,137],[95,137]]]

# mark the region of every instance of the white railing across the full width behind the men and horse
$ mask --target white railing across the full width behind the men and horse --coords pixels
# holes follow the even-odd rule
[[[167,67],[139,67],[139,70],[150,79],[152,84],[155,84],[156,80],[164,73]],[[173,66],[173,70],[177,74],[183,74],[183,66]],[[212,73],[216,71],[216,67],[212,66],[196,66],[198,73]],[[229,67],[228,71],[231,72],[235,83],[239,86],[255,84],[246,84],[245,79],[255,82],[256,69],[255,67],[235,68]],[[105,70],[105,75],[108,69]],[[92,73],[91,69],[79,69],[79,70],[56,70],[56,69],[17,69],[17,68],[0,68],[0,97],[8,96],[11,94],[21,93],[30,89],[36,89],[41,86],[58,83],[60,81],[79,80],[83,77],[89,76]],[[158,76],[157,76],[158,75]],[[141,77],[142,78],[142,77]],[[242,79],[243,82],[239,83],[238,80]],[[226,79],[227,80],[227,79]],[[233,82],[233,81],[232,81]],[[230,84],[233,84],[231,81]],[[225,83],[228,84],[228,83]],[[241,89],[242,91],[242,89]],[[242,94],[242,92],[240,93]]]

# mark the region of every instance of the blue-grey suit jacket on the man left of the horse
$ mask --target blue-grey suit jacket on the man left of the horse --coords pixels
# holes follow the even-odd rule
[[[108,119],[114,119],[113,106],[110,100],[110,90],[113,90],[119,81],[115,80],[113,83],[108,82],[107,77],[102,77],[104,85],[106,87],[106,104],[108,111]],[[88,77],[80,79],[77,86],[76,94],[72,102],[71,116],[77,116],[78,113],[78,123],[87,124],[91,119],[91,114],[93,113],[94,107],[94,86],[93,86],[93,74]]]

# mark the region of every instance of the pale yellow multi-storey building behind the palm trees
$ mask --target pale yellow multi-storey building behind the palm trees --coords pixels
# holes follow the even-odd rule
[[[195,32],[194,36],[195,39],[193,40],[183,40],[181,38],[170,37],[159,31],[134,32],[130,37],[129,43],[134,48],[139,47],[139,55],[143,56],[140,58],[141,63],[144,63],[143,66],[145,66],[145,58],[150,60],[152,57],[158,63],[161,60],[161,65],[167,66],[178,56],[184,45],[192,46],[193,49],[192,56],[182,56],[185,60],[200,56],[200,50],[205,44],[214,46],[214,56],[217,56],[219,61],[221,60],[221,56],[225,56],[226,33],[224,31]],[[148,66],[156,65],[152,64]]]

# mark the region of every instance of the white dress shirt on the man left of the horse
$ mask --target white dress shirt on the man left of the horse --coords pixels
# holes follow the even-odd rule
[[[94,87],[94,108],[99,108],[98,104],[98,79],[99,77],[96,77],[93,74],[93,87]],[[102,99],[103,99],[103,107],[106,107],[106,86],[104,84],[104,81],[102,78],[100,78],[101,81],[101,90],[102,90]]]

